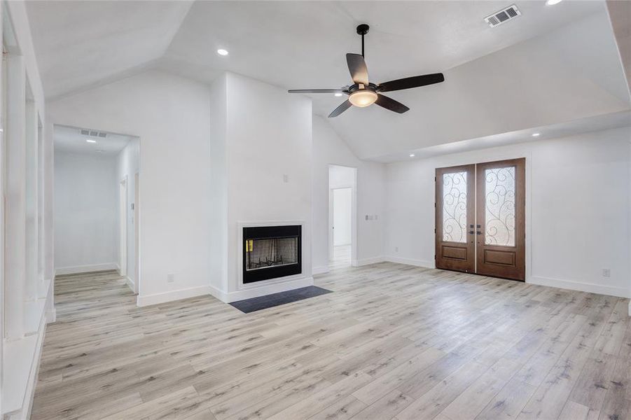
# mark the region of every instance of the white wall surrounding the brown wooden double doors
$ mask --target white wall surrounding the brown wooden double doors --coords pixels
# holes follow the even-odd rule
[[[434,266],[436,167],[525,157],[527,282],[628,296],[630,139],[622,128],[389,164],[387,258]]]

